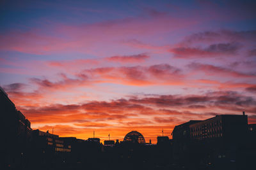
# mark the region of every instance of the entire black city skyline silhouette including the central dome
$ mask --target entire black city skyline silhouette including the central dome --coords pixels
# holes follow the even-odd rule
[[[176,125],[172,139],[146,143],[131,131],[124,141],[61,138],[33,131],[28,119],[0,88],[0,169],[252,169],[256,124],[243,115],[216,115]],[[94,133],[93,133],[94,134]]]

